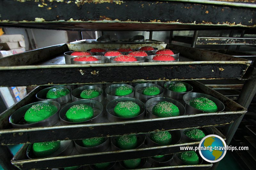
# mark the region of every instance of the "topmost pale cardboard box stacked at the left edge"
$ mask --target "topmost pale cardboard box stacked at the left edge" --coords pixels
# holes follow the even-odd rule
[[[10,49],[26,47],[25,39],[21,34],[1,35],[0,46],[3,46],[2,50],[10,50]]]

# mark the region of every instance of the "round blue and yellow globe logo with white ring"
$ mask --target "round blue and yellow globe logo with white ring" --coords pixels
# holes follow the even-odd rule
[[[225,141],[218,135],[207,135],[201,140],[198,148],[201,157],[212,163],[220,161],[227,152]]]

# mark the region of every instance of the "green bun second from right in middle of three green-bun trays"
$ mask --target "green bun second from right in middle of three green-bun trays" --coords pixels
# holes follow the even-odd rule
[[[168,131],[150,133],[150,139],[160,145],[168,145],[172,142],[172,135]]]

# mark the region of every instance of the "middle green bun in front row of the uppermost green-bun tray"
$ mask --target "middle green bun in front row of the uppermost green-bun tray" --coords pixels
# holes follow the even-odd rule
[[[135,117],[140,114],[140,106],[132,101],[121,101],[117,103],[114,112],[118,117]]]

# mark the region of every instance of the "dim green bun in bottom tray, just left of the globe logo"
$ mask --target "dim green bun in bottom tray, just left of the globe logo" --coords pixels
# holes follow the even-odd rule
[[[179,158],[188,165],[196,165],[199,163],[199,158],[195,151],[182,152],[179,154]]]

